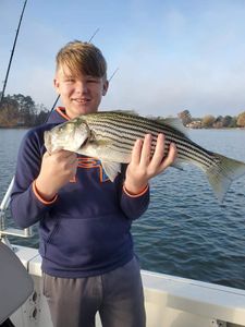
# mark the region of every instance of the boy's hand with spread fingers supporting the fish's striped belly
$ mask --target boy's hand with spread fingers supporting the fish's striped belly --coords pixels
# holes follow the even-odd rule
[[[155,153],[151,157],[152,137],[145,136],[144,142],[137,140],[132,152],[131,162],[126,169],[124,186],[132,194],[140,193],[148,184],[149,179],[162,172],[176,158],[176,146],[171,143],[169,153],[164,156],[164,135],[159,134]]]

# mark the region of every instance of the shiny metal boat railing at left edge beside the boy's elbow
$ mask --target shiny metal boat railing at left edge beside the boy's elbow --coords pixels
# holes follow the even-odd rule
[[[14,177],[12,181],[10,182],[10,185],[3,196],[3,199],[0,204],[0,240],[2,239],[7,241],[7,235],[12,235],[12,237],[20,237],[20,238],[30,238],[33,235],[32,228],[25,228],[23,230],[17,229],[17,228],[12,228],[12,227],[5,227],[5,220],[7,220],[7,209],[9,208],[10,205],[10,197],[11,197],[11,192],[13,189],[13,183],[14,183]],[[8,243],[8,241],[5,242]]]

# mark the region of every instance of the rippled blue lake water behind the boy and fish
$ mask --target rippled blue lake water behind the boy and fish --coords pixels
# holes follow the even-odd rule
[[[0,199],[14,174],[25,132],[0,130]],[[189,136],[245,161],[245,130],[196,130]],[[245,175],[233,182],[220,204],[200,170],[168,169],[151,181],[149,209],[132,231],[143,269],[245,289]],[[10,240],[37,247],[37,227],[32,239]]]

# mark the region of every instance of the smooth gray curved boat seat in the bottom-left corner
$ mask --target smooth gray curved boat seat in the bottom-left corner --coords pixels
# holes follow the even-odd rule
[[[0,241],[0,324],[34,291],[34,282],[14,252]]]

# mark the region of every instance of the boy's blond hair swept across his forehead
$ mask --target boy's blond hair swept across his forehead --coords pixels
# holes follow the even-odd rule
[[[89,43],[74,40],[57,53],[57,71],[68,68],[72,74],[107,78],[107,62],[101,51]]]

